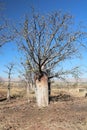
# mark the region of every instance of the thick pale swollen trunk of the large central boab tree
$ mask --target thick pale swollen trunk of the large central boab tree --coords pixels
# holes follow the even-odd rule
[[[46,107],[49,104],[48,77],[46,74],[40,80],[36,79],[36,100],[39,107]]]

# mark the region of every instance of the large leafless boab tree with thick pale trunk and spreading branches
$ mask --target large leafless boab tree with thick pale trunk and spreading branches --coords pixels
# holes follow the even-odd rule
[[[79,57],[85,33],[76,29],[70,14],[61,11],[44,16],[33,13],[32,18],[25,17],[20,30],[17,32],[20,34],[21,49],[35,74],[38,106],[48,106],[49,79],[76,74],[78,67],[63,71],[60,65],[66,60]],[[58,71],[56,67],[59,67]]]

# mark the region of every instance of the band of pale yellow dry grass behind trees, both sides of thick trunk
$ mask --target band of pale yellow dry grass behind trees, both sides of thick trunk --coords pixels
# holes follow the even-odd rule
[[[85,83],[79,83],[78,86],[75,86],[75,83],[71,84],[64,84],[64,83],[57,83],[52,84],[51,88],[51,95],[55,96],[60,93],[66,93],[70,94],[74,97],[84,97],[87,93],[87,84]],[[7,94],[7,84],[1,84],[0,85],[0,94],[4,95],[6,97]],[[25,84],[11,84],[11,91],[10,91],[11,97],[27,97],[26,87]],[[30,91],[28,97],[32,98],[35,97],[35,92],[33,90]]]

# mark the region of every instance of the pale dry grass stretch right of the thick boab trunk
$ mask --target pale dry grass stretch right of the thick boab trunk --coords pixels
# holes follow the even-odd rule
[[[86,83],[69,83],[69,84],[64,84],[64,83],[59,83],[55,84],[52,87],[52,95],[57,95],[59,93],[66,93],[70,94],[74,97],[84,97],[85,94],[87,93],[87,84]]]

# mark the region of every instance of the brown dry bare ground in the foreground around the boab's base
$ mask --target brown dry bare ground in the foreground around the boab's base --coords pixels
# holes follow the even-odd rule
[[[30,103],[20,97],[1,101],[0,130],[87,130],[87,98],[63,92],[43,109],[34,99]]]

